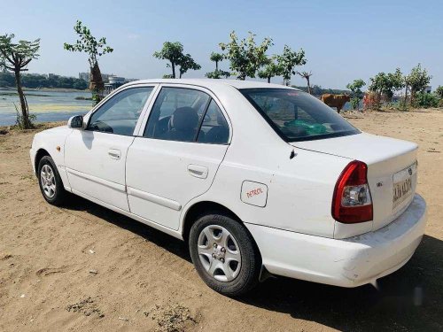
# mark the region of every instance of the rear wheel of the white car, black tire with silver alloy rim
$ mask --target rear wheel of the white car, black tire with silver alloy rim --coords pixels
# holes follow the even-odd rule
[[[199,276],[213,290],[237,297],[259,282],[261,258],[253,236],[229,215],[198,218],[190,228],[189,247]]]

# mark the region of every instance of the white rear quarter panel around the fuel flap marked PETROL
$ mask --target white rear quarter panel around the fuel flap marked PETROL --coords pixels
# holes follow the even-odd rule
[[[228,207],[245,223],[333,237],[332,193],[350,159],[293,148],[237,90],[219,89],[217,96],[229,113],[234,135],[211,189],[192,200],[185,211],[198,201],[212,201]],[[265,206],[242,201],[244,181],[268,187],[261,190],[268,195]]]

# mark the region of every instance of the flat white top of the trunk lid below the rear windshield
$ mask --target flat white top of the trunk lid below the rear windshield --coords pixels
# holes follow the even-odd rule
[[[407,154],[417,149],[416,143],[367,133],[323,140],[292,142],[291,145],[300,149],[357,159],[367,164],[376,164],[387,158]]]

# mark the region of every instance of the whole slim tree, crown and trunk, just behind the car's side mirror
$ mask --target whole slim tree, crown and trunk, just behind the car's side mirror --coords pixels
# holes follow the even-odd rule
[[[98,66],[98,57],[106,53],[112,53],[113,48],[106,46],[106,38],[101,37],[98,41],[88,27],[83,26],[82,21],[77,20],[74,26],[75,33],[80,37],[74,44],[65,42],[63,48],[72,52],[85,52],[88,54],[89,62],[89,89],[92,90],[92,99],[97,104],[103,98],[105,84],[102,73]]]

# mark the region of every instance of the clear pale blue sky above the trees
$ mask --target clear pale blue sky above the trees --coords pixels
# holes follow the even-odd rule
[[[400,67],[408,73],[421,63],[432,75],[431,86],[443,85],[443,1],[5,1],[0,0],[0,34],[17,39],[41,39],[40,58],[29,73],[78,76],[88,71],[87,55],[68,52],[64,42],[75,42],[76,19],[97,38],[113,47],[99,58],[102,73],[126,78],[159,78],[170,72],[167,62],[152,57],[163,42],[182,42],[184,51],[202,66],[183,78],[204,77],[214,70],[212,51],[228,42],[235,30],[248,31],[257,42],[271,37],[268,54],[287,44],[306,52],[311,84],[345,89],[346,84]],[[221,69],[228,70],[224,60]],[[280,78],[273,82],[281,83]],[[305,85],[299,76],[291,84]]]

